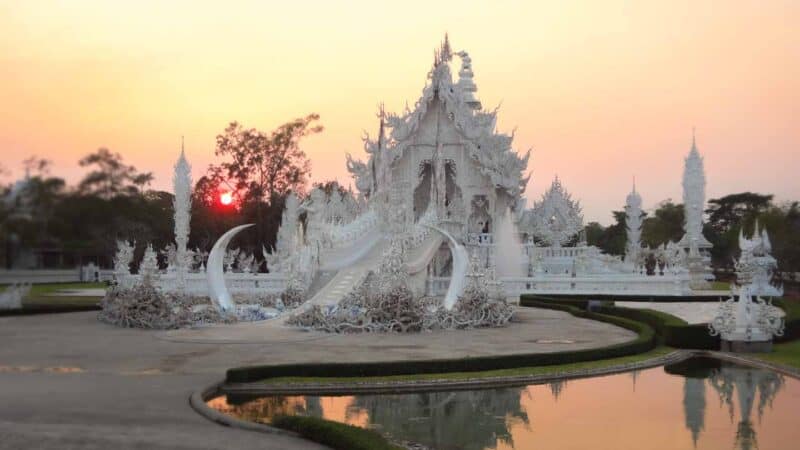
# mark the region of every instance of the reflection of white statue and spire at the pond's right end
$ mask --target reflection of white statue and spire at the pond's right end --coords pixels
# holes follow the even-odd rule
[[[758,448],[756,431],[752,422],[753,405],[757,402],[758,420],[767,406],[772,406],[777,393],[784,385],[781,374],[752,367],[739,366],[708,359],[689,360],[666,366],[669,373],[684,376],[683,411],[686,428],[692,433],[697,446],[700,433],[705,428],[706,380],[718,394],[720,407],[727,407],[731,422],[735,420],[734,403],[739,405],[739,423],[734,448]],[[734,399],[736,400],[734,402]]]

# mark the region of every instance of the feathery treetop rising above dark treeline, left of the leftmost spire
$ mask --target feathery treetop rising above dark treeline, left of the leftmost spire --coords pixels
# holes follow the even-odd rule
[[[120,195],[136,195],[153,181],[152,172],[138,172],[134,166],[123,163],[122,155],[105,147],[78,161],[81,167],[95,167],[78,184],[84,195],[97,195],[110,199]]]

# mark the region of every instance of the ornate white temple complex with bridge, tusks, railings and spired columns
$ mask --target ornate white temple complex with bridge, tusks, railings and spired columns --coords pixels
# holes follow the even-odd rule
[[[335,308],[379,267],[402,267],[415,298],[450,299],[447,307],[478,272],[491,280],[496,275],[489,284],[510,298],[684,296],[700,287],[692,282],[707,278],[710,244],[702,236],[705,176],[694,144],[684,172],[686,236],[650,250],[660,265],[648,275],[635,189],[627,198],[624,260],[587,245],[580,203],[558,178],[525,209],[530,151],[512,148],[513,135],[497,131],[497,110],[482,109],[477,92],[469,54],[454,53],[445,38],[414,107],[401,114],[381,107],[376,136],[364,138],[366,160],[347,155],[357,192],[315,188],[304,199],[287,197],[275,248],[263,249],[269,273],[256,273],[253,255],[226,245],[209,255],[221,258],[215,273],[210,263],[203,273],[201,253],[186,249],[191,177],[182,152],[175,167],[176,245],[167,250],[170,269],[158,274],[159,287],[228,300],[228,291],[258,295],[292,286],[307,297],[304,310]],[[226,233],[225,239],[232,237]],[[383,264],[387,255],[400,255],[403,264]],[[131,244],[120,243],[122,282],[141,277],[130,274],[131,257]]]

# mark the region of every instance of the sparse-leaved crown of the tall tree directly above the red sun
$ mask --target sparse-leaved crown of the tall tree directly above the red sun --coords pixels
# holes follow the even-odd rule
[[[300,139],[323,130],[318,114],[287,122],[269,134],[232,122],[217,136],[217,156],[230,158],[209,168],[208,176],[231,187],[245,202],[272,202],[289,191],[305,192],[311,162]]]

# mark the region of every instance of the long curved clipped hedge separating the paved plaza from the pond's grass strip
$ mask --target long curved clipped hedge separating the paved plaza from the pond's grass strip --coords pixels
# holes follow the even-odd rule
[[[577,317],[598,320],[626,328],[637,333],[638,337],[630,342],[602,348],[554,353],[522,353],[423,361],[304,363],[238,367],[228,370],[226,382],[248,383],[277,377],[377,377],[423,373],[480,372],[519,367],[549,366],[635,355],[652,350],[658,344],[655,331],[646,323],[619,316],[590,312],[570,305],[553,305],[553,307],[567,311]]]

